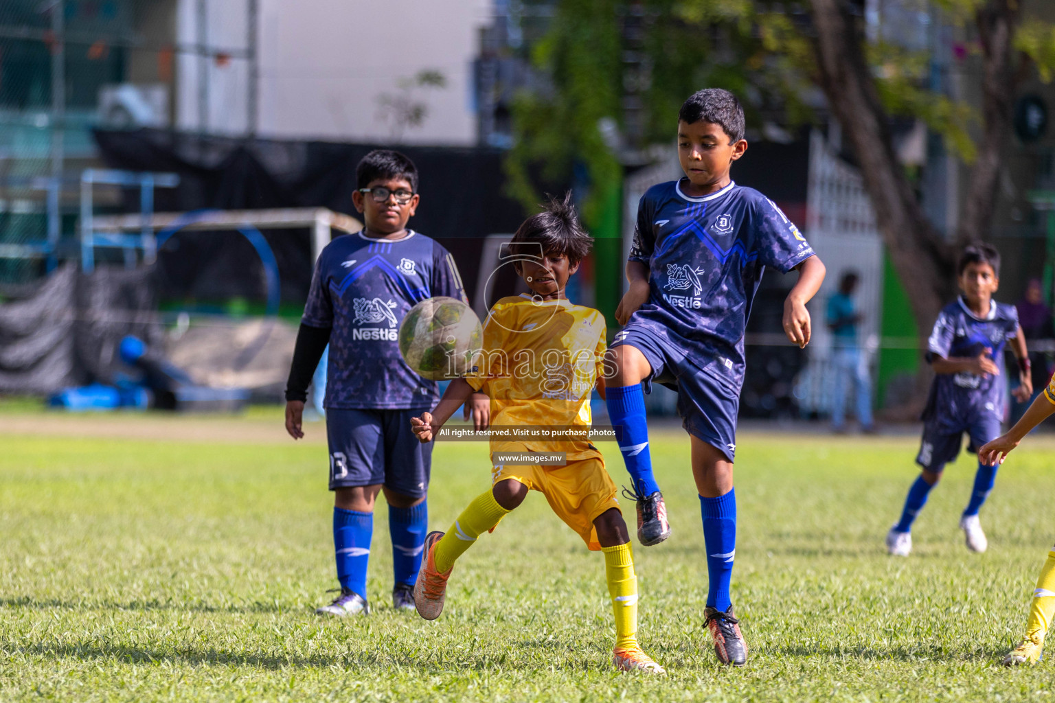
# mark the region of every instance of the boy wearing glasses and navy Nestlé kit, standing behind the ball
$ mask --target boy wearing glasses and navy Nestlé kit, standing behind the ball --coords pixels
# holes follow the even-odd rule
[[[366,567],[373,505],[388,502],[395,586],[392,606],[414,610],[414,582],[427,531],[431,446],[410,431],[410,417],[439,398],[435,382],[399,353],[400,320],[415,304],[446,295],[465,300],[449,252],[406,228],[418,207],[418,171],[398,152],[376,150],[356,169],[351,194],[365,227],[338,237],[315,261],[286,386],[286,431],[304,436],[308,385],[329,344],[326,433],[334,493],[333,547],[341,594],[321,616],[367,613]],[[486,397],[473,406],[486,423]]]

